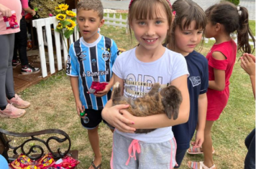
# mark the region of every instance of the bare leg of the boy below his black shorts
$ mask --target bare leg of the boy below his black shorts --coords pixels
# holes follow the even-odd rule
[[[99,150],[99,134],[98,134],[98,128],[99,126],[93,128],[92,130],[88,130],[88,138],[91,144],[91,148],[93,149],[94,153],[94,160],[93,163],[95,166],[98,166],[101,164],[102,155],[101,151]],[[89,169],[93,169],[92,166],[90,166]]]

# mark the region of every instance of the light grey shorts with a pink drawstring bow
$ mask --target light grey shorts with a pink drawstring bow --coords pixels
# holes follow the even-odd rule
[[[176,148],[174,137],[163,143],[144,143],[114,132],[111,169],[173,168]]]

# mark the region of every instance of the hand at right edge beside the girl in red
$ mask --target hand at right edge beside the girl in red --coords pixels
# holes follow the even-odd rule
[[[244,71],[247,72],[247,74],[250,76],[255,76],[255,56],[252,54],[244,53],[240,59],[240,66],[242,69],[244,69]]]

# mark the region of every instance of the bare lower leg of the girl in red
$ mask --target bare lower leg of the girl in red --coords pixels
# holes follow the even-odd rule
[[[204,129],[204,143],[202,145],[204,150],[204,165],[211,167],[214,165],[214,159],[212,158],[212,140],[211,140],[211,127],[214,125],[214,121],[206,120],[206,127]]]

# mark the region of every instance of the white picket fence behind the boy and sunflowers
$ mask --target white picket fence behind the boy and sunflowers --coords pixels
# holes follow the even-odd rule
[[[73,9],[76,12],[76,9]],[[126,19],[122,19],[120,14],[119,19],[116,18],[116,14],[113,17],[109,16],[109,13],[106,17],[104,17],[105,24],[111,26],[119,26],[126,27]],[[116,23],[119,21],[119,23]],[[61,37],[59,32],[55,32],[54,29],[58,25],[58,20],[55,16],[44,18],[44,19],[36,19],[32,21],[32,25],[37,29],[37,39],[38,39],[38,47],[39,47],[39,56],[42,70],[42,77],[47,77],[47,62],[46,62],[46,54],[45,54],[45,46],[47,46],[47,54],[50,65],[50,74],[55,73],[55,60],[57,60],[58,71],[63,69],[65,66],[65,62],[68,59],[68,40],[64,37]],[[53,50],[52,37],[55,39],[55,53]],[[79,39],[79,33],[77,27],[75,27],[73,36],[70,36],[70,44],[74,42],[74,40]],[[63,52],[62,52],[63,49]],[[56,58],[55,58],[56,57]]]

